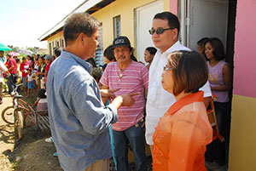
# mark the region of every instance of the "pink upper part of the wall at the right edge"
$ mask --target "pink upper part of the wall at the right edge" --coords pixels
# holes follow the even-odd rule
[[[256,1],[238,0],[234,94],[256,98]]]

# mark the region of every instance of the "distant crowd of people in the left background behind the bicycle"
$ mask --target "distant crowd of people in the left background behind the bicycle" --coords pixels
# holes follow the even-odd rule
[[[0,103],[3,103],[3,88],[12,94],[17,87],[18,92],[24,92],[25,97],[38,97],[38,90],[45,89],[49,66],[57,56],[61,54],[61,48],[55,48],[55,55],[26,55],[22,58],[11,55],[4,55],[0,51]],[[7,84],[7,85],[6,85]],[[34,93],[33,93],[34,92]],[[33,94],[32,94],[33,93]]]

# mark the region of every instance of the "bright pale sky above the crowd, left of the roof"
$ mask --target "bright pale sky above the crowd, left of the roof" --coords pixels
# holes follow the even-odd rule
[[[1,0],[0,43],[47,48],[38,37],[55,26],[84,0]]]

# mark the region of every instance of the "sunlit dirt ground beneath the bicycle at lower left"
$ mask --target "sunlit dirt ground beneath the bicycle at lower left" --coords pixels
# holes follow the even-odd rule
[[[6,106],[12,105],[9,94],[3,95],[1,113]],[[32,98],[30,100],[33,101]],[[50,136],[49,130],[41,131],[36,125],[23,130],[23,139],[17,140],[14,126],[0,118],[0,170],[61,171],[58,158],[53,157],[54,144],[44,141]]]

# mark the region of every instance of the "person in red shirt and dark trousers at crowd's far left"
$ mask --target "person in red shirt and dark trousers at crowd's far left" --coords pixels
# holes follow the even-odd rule
[[[7,68],[10,73],[10,76],[7,77],[7,85],[8,85],[8,93],[11,94],[15,88],[17,83],[17,63],[16,60],[10,55],[6,55],[7,61]]]

